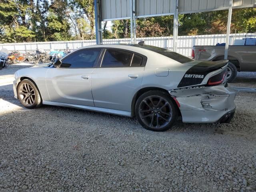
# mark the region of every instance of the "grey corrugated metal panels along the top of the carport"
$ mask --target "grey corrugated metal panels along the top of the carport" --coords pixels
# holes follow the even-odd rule
[[[172,15],[176,0],[136,0],[136,15]],[[101,0],[102,20],[130,17],[130,0]],[[233,0],[234,8],[256,5],[256,0]],[[179,13],[228,9],[229,0],[179,0]]]

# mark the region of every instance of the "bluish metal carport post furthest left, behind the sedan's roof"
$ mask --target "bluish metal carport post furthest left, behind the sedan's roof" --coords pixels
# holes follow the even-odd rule
[[[102,44],[102,26],[101,26],[101,5],[100,0],[94,0],[94,12],[95,12],[95,32],[96,32],[96,44]]]

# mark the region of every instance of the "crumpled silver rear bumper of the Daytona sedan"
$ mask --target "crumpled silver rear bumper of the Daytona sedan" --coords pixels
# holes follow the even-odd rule
[[[180,103],[183,122],[230,122],[234,116],[236,91],[230,86],[186,88],[169,93]]]

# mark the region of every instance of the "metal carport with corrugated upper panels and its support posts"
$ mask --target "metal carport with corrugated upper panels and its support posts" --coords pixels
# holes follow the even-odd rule
[[[136,18],[174,15],[173,50],[178,38],[178,14],[229,10],[225,58],[227,58],[232,9],[256,7],[256,0],[94,0],[97,44],[102,44],[101,22],[130,19],[131,42],[136,41]]]

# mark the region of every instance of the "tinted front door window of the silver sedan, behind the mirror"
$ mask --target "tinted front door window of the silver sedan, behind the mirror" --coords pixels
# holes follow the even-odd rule
[[[61,67],[91,68],[94,66],[100,49],[80,50],[62,60]]]

